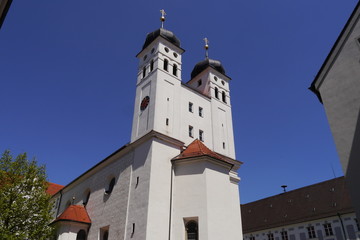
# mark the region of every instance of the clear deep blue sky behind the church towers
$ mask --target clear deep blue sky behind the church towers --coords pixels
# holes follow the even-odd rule
[[[231,81],[246,203],[341,176],[323,106],[307,88],[357,1],[14,1],[0,29],[0,151],[27,152],[67,184],[130,140],[146,34],[173,31],[183,81],[204,58]]]

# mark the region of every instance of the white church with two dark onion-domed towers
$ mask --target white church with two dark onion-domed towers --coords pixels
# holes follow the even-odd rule
[[[206,57],[182,82],[183,52],[147,35],[131,141],[53,196],[57,239],[243,239],[230,78]]]

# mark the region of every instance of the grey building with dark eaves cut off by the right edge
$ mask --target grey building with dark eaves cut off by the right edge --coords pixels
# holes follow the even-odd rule
[[[310,89],[323,103],[348,189],[360,217],[360,3]]]

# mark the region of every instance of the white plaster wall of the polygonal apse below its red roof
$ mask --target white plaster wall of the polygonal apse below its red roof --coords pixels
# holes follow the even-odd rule
[[[184,219],[191,218],[198,219],[199,239],[242,239],[238,192],[228,173],[209,161],[175,165],[172,239],[184,239]]]

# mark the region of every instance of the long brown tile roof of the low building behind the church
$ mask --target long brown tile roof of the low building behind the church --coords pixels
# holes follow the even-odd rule
[[[354,209],[344,177],[241,205],[244,233],[350,212]]]

